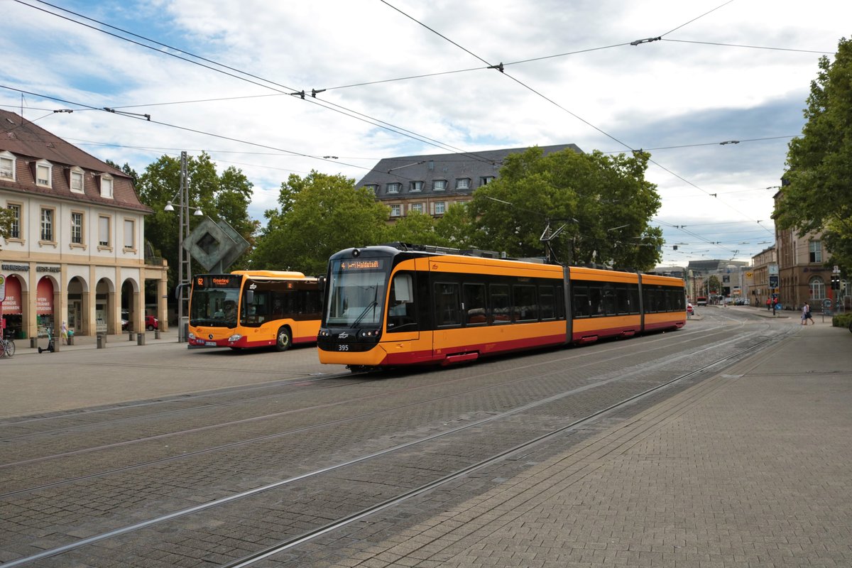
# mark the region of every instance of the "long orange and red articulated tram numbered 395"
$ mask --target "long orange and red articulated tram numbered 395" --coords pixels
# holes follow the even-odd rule
[[[686,324],[680,278],[494,256],[407,244],[332,255],[320,362],[452,364]]]

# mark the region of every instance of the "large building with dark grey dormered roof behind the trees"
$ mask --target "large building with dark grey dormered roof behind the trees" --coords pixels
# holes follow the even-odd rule
[[[582,153],[574,144],[539,146],[545,155],[563,150]],[[417,211],[440,217],[452,204],[466,203],[477,187],[497,179],[503,160],[527,148],[458,154],[382,158],[358,186],[371,189],[390,208],[394,220]]]

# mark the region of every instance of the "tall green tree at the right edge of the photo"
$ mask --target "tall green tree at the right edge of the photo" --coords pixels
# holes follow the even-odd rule
[[[841,38],[834,61],[823,56],[810,83],[802,135],[787,148],[775,208],[780,228],[823,233],[829,264],[852,269],[852,40]]]

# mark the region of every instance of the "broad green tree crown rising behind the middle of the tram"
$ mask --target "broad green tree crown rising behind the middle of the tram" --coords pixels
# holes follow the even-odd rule
[[[541,256],[544,233],[559,231],[550,241],[559,261],[653,268],[663,239],[648,225],[660,206],[656,186],[645,180],[649,157],[571,150],[544,156],[539,148],[512,154],[498,179],[474,192],[470,244]]]

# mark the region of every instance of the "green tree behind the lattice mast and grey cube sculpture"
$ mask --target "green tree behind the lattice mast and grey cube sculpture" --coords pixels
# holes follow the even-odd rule
[[[252,184],[239,169],[228,168],[222,175],[216,173],[216,164],[202,152],[199,157],[187,158],[187,181],[191,213],[200,208],[204,215],[190,215],[190,230],[209,216],[214,221],[227,221],[239,234],[253,243],[259,223],[248,214]],[[145,219],[145,237],[153,245],[155,254],[169,262],[170,288],[176,285],[178,273],[178,190],[181,186],[181,159],[162,156],[149,164],[138,176],[136,191],[143,204],[153,209]],[[174,211],[165,211],[172,202]],[[234,262],[230,269],[245,267],[248,253]],[[193,274],[203,273],[204,267],[193,264]]]

